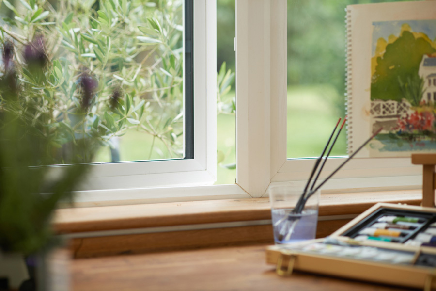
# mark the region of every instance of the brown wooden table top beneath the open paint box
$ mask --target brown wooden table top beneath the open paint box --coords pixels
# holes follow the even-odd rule
[[[73,260],[72,291],[399,291],[321,275],[280,277],[265,262],[265,245]]]

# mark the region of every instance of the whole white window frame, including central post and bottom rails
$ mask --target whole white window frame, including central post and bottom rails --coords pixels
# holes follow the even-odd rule
[[[156,173],[162,162],[150,173],[140,172],[126,163],[123,171],[129,175],[121,178],[131,183],[127,190],[120,189],[117,181],[111,181],[114,177],[110,176],[112,169],[109,169],[109,177],[93,177],[90,181],[95,189],[106,187],[106,190],[79,192],[76,200],[79,206],[262,197],[271,182],[305,183],[314,160],[286,159],[287,0],[235,1],[236,183],[195,186],[197,174],[216,175],[216,0],[194,0],[194,37],[197,40],[194,74],[203,73],[194,77],[195,96],[207,96],[206,104],[195,103],[195,114],[201,113],[202,108],[207,113],[205,119],[195,120],[194,130],[198,130],[200,124],[200,134],[204,133],[200,137],[207,137],[202,158],[196,160],[195,165],[180,164],[187,171],[174,168],[176,170],[171,173],[163,173],[165,169]],[[199,25],[202,23],[199,19],[203,20],[204,26]],[[199,37],[202,37],[200,43]],[[199,49],[199,45],[204,47]],[[199,102],[196,97],[195,102]],[[205,120],[205,123],[199,120]],[[197,131],[195,136],[199,138]],[[198,154],[197,147],[195,154]],[[331,159],[324,175],[343,160]],[[147,164],[151,165],[150,162]],[[353,159],[326,183],[322,191],[417,189],[421,187],[420,171],[420,167],[412,166],[406,158]],[[151,187],[144,189],[142,180]]]

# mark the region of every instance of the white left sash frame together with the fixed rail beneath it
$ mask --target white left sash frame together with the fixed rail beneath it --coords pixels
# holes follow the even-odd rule
[[[194,0],[194,159],[92,165],[75,206],[249,198],[241,187],[212,185],[217,171],[216,0]]]

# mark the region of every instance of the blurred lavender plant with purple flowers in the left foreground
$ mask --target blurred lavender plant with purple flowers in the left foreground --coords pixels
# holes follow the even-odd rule
[[[22,53],[24,63],[14,58]],[[47,99],[35,93],[22,80],[29,74],[44,82],[47,55],[41,38],[18,51],[11,41],[2,47],[0,75],[0,252],[31,254],[45,248],[52,237],[50,219],[53,210],[71,193],[87,170],[84,162],[93,159],[96,136],[76,139],[64,147],[63,159],[68,166],[51,166],[59,132],[50,126],[52,112],[46,110]],[[82,100],[92,92],[82,92]],[[86,124],[86,114],[76,120]],[[56,171],[56,172],[53,172]],[[55,175],[53,175],[55,174]]]

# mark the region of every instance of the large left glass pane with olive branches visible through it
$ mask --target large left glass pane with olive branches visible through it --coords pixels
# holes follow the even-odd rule
[[[58,163],[91,135],[102,145],[93,162],[192,158],[192,0],[8,3],[0,40],[15,47],[20,106],[38,104]]]

